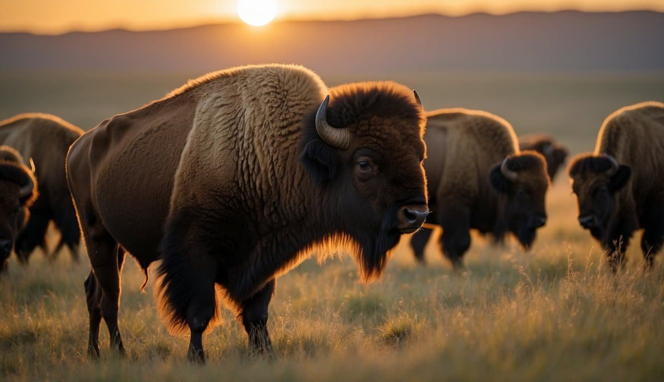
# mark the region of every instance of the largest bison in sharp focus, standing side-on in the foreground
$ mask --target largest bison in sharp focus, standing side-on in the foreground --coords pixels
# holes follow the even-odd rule
[[[403,86],[327,89],[280,65],[216,72],[100,123],[67,159],[92,263],[88,352],[99,354],[102,317],[124,352],[125,251],[144,269],[161,255],[159,304],[171,332],[189,328],[190,359],[205,359],[202,335],[222,302],[250,346],[270,351],[278,275],[345,247],[362,279],[379,277],[400,235],[422,225],[425,124]]]

